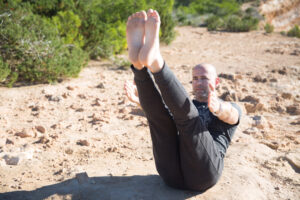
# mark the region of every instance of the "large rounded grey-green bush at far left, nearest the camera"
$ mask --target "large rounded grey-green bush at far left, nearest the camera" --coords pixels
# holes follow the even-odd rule
[[[86,54],[75,45],[64,44],[49,20],[20,9],[5,12],[1,20],[2,66],[10,70],[2,83],[49,83],[78,75]]]

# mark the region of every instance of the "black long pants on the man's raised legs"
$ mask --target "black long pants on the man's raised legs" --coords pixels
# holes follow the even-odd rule
[[[147,68],[132,70],[150,127],[156,168],[164,182],[196,191],[215,185],[223,158],[181,83],[166,64],[153,74],[160,92]]]

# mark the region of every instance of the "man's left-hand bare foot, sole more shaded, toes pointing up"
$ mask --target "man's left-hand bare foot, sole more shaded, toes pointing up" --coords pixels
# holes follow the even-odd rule
[[[145,41],[145,22],[147,15],[145,11],[131,15],[127,20],[126,39],[129,50],[129,60],[137,69],[144,66],[139,61],[139,52]]]

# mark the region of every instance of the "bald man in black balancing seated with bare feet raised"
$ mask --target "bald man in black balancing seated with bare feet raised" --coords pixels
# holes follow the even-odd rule
[[[155,165],[164,182],[203,192],[221,176],[241,111],[236,104],[218,99],[215,88],[219,78],[209,64],[193,68],[195,100],[188,97],[160,54],[159,27],[155,10],[128,18],[129,60],[136,85],[127,82],[125,91],[145,112]]]

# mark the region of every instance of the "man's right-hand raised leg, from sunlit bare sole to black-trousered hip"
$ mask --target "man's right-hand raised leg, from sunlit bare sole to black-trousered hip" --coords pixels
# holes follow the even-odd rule
[[[187,188],[204,191],[213,186],[221,173],[222,159],[198,110],[184,87],[164,64],[159,52],[160,19],[156,11],[148,11],[145,24],[146,43],[139,59],[154,75],[162,98],[171,111],[179,131],[180,161]]]

